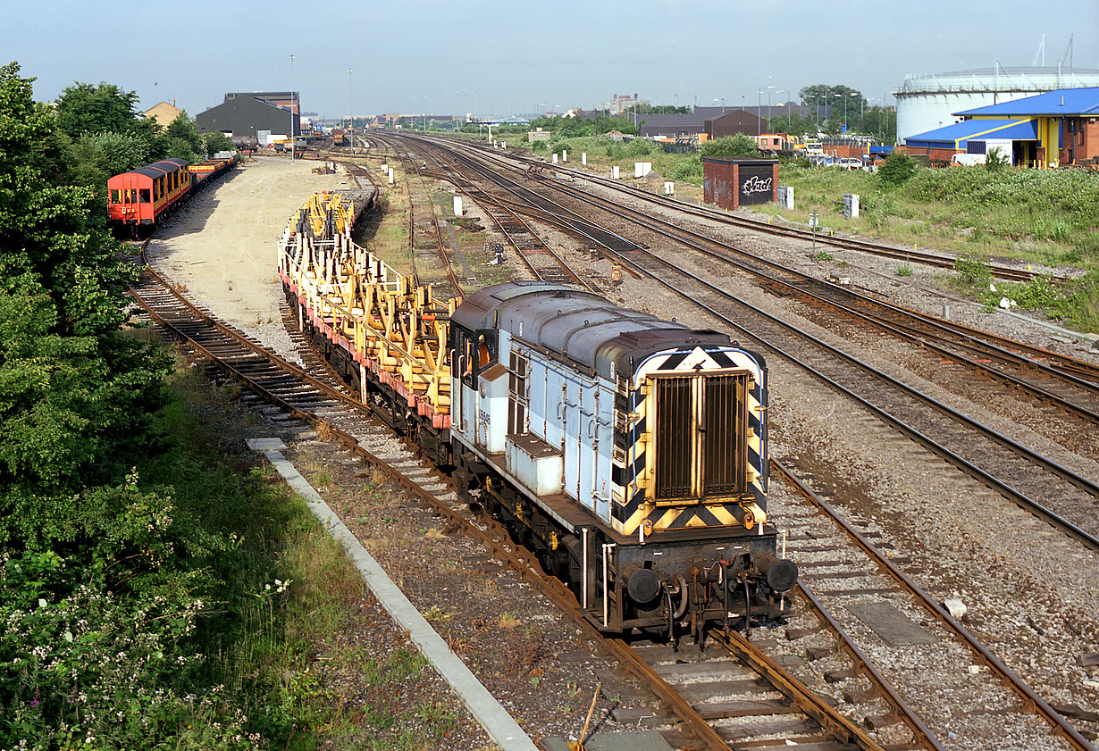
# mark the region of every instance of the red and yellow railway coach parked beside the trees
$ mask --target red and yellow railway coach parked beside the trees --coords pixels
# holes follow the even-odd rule
[[[115,175],[107,181],[108,220],[112,227],[152,228],[190,189],[191,176],[182,159],[162,159]]]

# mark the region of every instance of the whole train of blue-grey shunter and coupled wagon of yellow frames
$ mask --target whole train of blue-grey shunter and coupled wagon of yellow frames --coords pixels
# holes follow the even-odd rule
[[[562,284],[437,303],[352,242],[354,215],[318,194],[282,234],[303,333],[586,618],[678,637],[785,612],[798,572],[767,518],[757,352]]]

